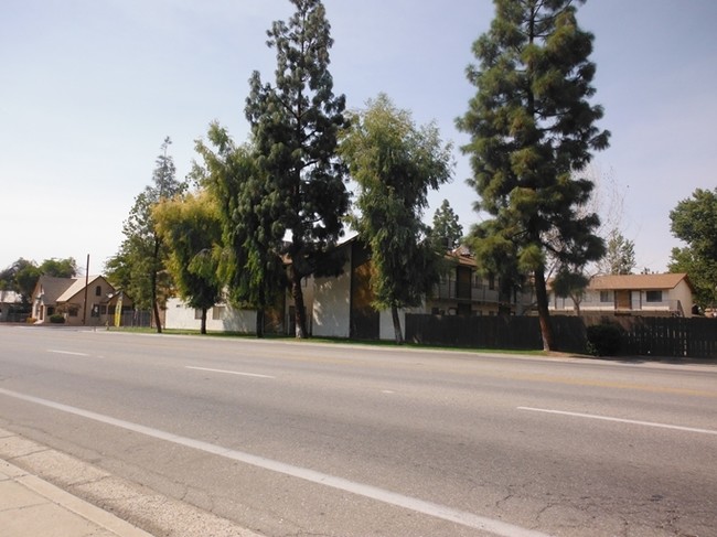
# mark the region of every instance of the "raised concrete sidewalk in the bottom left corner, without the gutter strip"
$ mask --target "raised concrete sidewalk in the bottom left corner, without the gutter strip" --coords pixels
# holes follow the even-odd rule
[[[151,537],[0,460],[0,537]]]

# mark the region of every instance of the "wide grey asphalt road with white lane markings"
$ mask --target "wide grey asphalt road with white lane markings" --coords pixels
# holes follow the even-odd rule
[[[717,536],[710,365],[0,327],[0,427],[268,536]]]

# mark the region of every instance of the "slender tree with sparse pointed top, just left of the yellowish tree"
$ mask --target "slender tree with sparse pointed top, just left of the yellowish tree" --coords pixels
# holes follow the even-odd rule
[[[109,279],[128,292],[138,309],[153,310],[158,333],[162,332],[160,307],[170,292],[171,280],[165,270],[167,249],[154,228],[152,210],[162,200],[186,190],[186,183],[175,179],[174,161],[168,154],[170,143],[167,137],[156,161],[152,184],[135,198],[119,253],[106,264]]]

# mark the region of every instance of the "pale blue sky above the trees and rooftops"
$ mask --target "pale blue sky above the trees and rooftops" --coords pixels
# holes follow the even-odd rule
[[[467,141],[454,118],[474,88],[464,77],[490,0],[324,0],[336,93],[352,108],[385,92],[446,140]],[[165,136],[183,178],[212,120],[247,137],[254,69],[272,79],[271,21],[288,0],[3,0],[0,17],[0,269],[90,255],[99,272],[117,253],[135,196],[151,182]],[[635,243],[638,269],[666,270],[679,243],[668,213],[717,170],[717,1],[589,0],[596,35],[595,103],[612,131],[595,158],[600,213],[613,198]],[[479,221],[464,184],[468,159],[431,196],[467,229]],[[614,211],[612,211],[614,213]]]

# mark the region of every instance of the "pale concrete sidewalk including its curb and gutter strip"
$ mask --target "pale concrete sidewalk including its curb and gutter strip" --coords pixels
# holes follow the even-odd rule
[[[260,537],[0,428],[0,537],[55,536]]]

